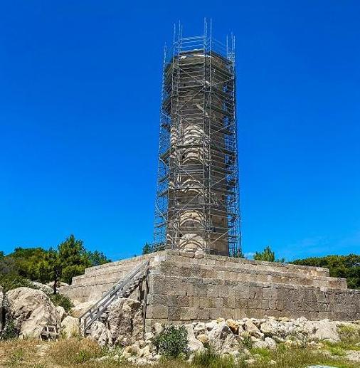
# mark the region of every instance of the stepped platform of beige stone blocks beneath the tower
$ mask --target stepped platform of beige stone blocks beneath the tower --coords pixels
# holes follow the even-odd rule
[[[360,320],[360,290],[329,277],[327,268],[162,251],[87,268],[63,293],[98,300],[140,263],[150,261],[145,323],[218,317],[306,317]]]

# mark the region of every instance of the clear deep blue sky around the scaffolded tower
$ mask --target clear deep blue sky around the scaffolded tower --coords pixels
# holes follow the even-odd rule
[[[359,1],[0,0],[0,250],[152,241],[162,54],[237,40],[243,249],[360,249]]]

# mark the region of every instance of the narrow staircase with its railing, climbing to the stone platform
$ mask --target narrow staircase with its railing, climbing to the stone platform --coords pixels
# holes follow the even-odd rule
[[[112,305],[118,298],[128,298],[134,290],[139,286],[139,283],[147,277],[149,270],[149,261],[141,263],[137,268],[130,271],[125,278],[119,280],[110,290],[102,295],[92,307],[90,307],[79,318],[80,331],[84,336],[89,335],[90,327],[95,321],[104,322],[109,314],[108,307]]]

